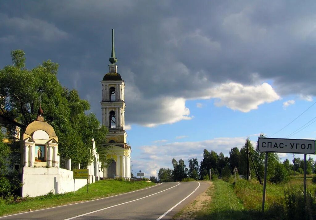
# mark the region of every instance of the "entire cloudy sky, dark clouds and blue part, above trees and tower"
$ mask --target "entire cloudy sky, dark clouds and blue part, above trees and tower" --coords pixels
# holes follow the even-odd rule
[[[101,121],[113,28],[132,172],[157,176],[172,158],[229,156],[261,132],[316,138],[315,9],[278,0],[1,1],[0,68],[15,49],[29,69],[57,62],[59,82]]]

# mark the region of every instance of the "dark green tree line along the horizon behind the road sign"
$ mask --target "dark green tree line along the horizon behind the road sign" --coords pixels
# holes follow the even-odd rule
[[[259,137],[265,137],[260,134]],[[253,164],[250,161],[250,177],[257,178],[255,168],[261,178],[264,176],[264,161],[265,153],[259,152],[257,146],[253,146],[252,142],[247,138],[245,144],[239,150],[236,146],[231,148],[229,156],[225,156],[222,152],[217,154],[215,151],[208,151],[204,149],[203,159],[200,164],[197,158],[188,160],[188,167],[186,167],[182,159],[177,160],[173,158],[173,169],[160,168],[158,177],[160,181],[183,181],[186,178],[194,180],[209,180],[210,170],[212,179],[218,177],[228,176],[233,174],[233,169],[236,167],[240,175],[247,175],[247,143],[248,149],[253,159]],[[250,159],[249,159],[250,160]],[[303,173],[304,160],[295,158],[292,160],[293,164],[288,159],[280,162],[277,153],[269,153],[267,166],[267,180],[273,183],[286,182],[289,180],[289,175]],[[307,174],[316,173],[316,164],[313,158],[307,160]]]

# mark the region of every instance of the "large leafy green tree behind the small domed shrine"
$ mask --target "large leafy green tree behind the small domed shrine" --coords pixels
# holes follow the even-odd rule
[[[87,100],[82,100],[76,90],[63,88],[57,80],[58,64],[50,60],[28,70],[24,52],[11,52],[13,65],[0,70],[0,114],[5,120],[21,128],[21,133],[33,122],[40,107],[45,120],[58,135],[58,149],[62,157],[69,156],[72,163],[88,164],[91,160],[91,139],[96,140],[100,159],[106,162],[106,149],[101,144],[107,128],[100,126],[90,110]]]

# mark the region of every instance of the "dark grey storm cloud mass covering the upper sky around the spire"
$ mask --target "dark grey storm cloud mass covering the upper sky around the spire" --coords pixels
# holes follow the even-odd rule
[[[316,95],[312,1],[7,1],[0,6],[0,66],[10,64],[10,51],[18,48],[26,52],[28,68],[47,59],[58,62],[60,82],[89,99],[99,118],[112,28],[118,71],[129,91],[126,123],[187,119],[185,99],[212,96],[212,86],[228,82],[252,86],[273,80],[280,95]],[[165,106],[166,100],[174,100],[174,108]],[[178,114],[166,119],[159,113],[164,110]]]

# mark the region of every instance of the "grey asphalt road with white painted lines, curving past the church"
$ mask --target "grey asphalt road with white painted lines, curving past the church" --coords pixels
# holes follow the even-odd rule
[[[171,219],[204,192],[207,182],[172,182],[76,204],[0,217],[4,219]]]

